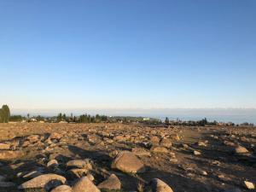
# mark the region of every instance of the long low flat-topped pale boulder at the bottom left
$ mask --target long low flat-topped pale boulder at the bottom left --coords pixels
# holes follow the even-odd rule
[[[20,184],[19,189],[53,189],[66,183],[66,178],[56,174],[44,174]]]

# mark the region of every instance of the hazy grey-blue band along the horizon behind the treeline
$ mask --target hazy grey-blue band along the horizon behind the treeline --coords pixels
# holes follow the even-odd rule
[[[77,108],[77,109],[13,109],[12,113],[30,115],[56,116],[58,113],[66,113],[67,116],[80,115],[88,113],[95,115],[96,113],[108,116],[142,116],[157,119],[183,119],[183,120],[199,120],[207,118],[211,121],[217,120],[220,122],[234,122],[241,124],[249,122],[256,124],[256,109],[255,108]]]

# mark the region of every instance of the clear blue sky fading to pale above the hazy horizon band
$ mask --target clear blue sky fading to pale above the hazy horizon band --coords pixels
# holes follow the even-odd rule
[[[0,1],[11,108],[256,108],[256,1]]]

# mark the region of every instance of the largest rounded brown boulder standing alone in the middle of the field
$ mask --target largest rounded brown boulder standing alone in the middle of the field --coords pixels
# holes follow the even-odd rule
[[[145,172],[143,162],[130,151],[120,152],[113,160],[111,167],[113,169],[119,169],[122,172]]]

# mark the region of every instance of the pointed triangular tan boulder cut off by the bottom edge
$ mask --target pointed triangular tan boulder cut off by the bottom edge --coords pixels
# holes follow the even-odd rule
[[[88,177],[82,177],[73,186],[73,192],[101,192]]]

